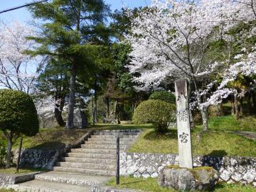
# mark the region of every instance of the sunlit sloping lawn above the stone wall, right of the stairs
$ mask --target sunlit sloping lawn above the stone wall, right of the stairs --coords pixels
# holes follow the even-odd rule
[[[256,140],[235,134],[236,131],[255,132],[255,116],[239,120],[231,115],[214,117],[209,121],[209,129],[201,132],[201,126],[197,126],[191,131],[193,154],[256,156]],[[172,129],[166,134],[158,134],[153,129],[146,129],[129,151],[178,154],[177,131]]]

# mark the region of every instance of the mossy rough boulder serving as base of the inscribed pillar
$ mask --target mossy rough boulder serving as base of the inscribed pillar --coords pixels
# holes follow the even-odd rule
[[[178,191],[213,191],[218,172],[211,167],[183,169],[167,166],[159,174],[159,185]]]

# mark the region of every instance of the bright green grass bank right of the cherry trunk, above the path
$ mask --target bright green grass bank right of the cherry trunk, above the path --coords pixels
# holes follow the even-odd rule
[[[212,117],[209,120],[209,129],[218,131],[256,132],[256,116],[247,116],[238,120],[235,119],[233,115]]]

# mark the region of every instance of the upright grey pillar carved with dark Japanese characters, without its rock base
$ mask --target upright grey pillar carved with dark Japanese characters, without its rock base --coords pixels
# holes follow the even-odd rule
[[[191,122],[188,105],[188,85],[186,80],[176,80],[175,95],[177,107],[179,166],[192,169]]]

